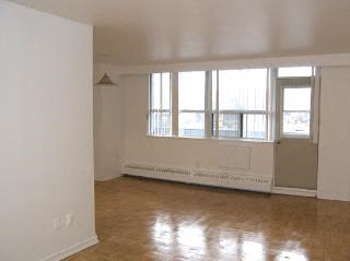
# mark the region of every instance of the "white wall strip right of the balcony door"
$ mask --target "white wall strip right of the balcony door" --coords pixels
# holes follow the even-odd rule
[[[350,67],[322,69],[318,198],[350,201]]]

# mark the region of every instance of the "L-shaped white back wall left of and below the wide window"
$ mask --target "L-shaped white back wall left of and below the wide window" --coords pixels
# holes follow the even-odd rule
[[[124,76],[126,163],[272,176],[273,144],[147,135],[148,74]]]

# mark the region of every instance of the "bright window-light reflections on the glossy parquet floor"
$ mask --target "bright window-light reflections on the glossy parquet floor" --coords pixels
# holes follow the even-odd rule
[[[217,232],[207,233],[217,234]],[[210,238],[213,238],[213,235],[210,236]],[[268,244],[261,233],[237,235],[237,233],[219,232],[217,240],[211,239],[208,244],[203,226],[194,221],[176,224],[171,215],[164,213],[155,217],[151,237],[160,253],[170,254],[171,251],[176,249],[189,260],[195,257],[203,257],[206,254],[209,257],[209,253],[212,254],[213,251],[208,249],[208,245],[215,249],[218,260],[237,257],[240,257],[241,261],[269,260]],[[290,241],[285,242],[285,249],[289,246]],[[308,258],[303,249],[282,250],[273,261],[308,261]]]

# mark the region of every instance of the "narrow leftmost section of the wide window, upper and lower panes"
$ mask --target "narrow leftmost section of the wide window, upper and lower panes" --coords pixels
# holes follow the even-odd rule
[[[150,75],[149,133],[151,135],[172,134],[171,73]]]

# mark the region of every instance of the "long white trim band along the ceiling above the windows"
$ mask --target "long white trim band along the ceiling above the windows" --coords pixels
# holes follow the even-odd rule
[[[144,74],[160,71],[224,70],[276,67],[340,67],[350,66],[350,54],[250,58],[203,62],[158,63],[143,66],[115,66],[120,75]]]

